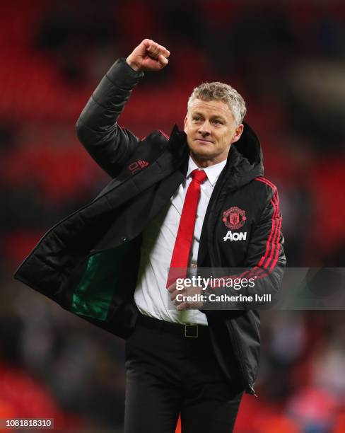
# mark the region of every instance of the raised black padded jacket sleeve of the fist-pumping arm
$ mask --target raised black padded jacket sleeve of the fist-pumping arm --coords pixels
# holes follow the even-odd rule
[[[79,141],[98,165],[115,178],[139,144],[139,138],[119,127],[117,118],[144,72],[118,59],[107,71],[76,122]]]

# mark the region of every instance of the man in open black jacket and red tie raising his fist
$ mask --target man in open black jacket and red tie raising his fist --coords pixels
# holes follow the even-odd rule
[[[279,197],[242,123],[245,102],[226,84],[194,88],[185,131],[175,126],[170,139],[119,127],[144,71],[163,69],[169,56],[143,40],[100,81],[76,129],[112,180],[50,229],[15,277],[127,339],[125,432],[174,432],[179,414],[182,432],[230,432],[243,392],[255,394],[259,313],[209,309],[213,290],[233,288],[177,290],[176,278],[187,267],[245,267],[257,279],[246,294],[278,290]]]

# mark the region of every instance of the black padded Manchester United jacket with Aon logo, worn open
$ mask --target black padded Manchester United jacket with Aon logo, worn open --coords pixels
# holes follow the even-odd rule
[[[117,125],[131,89],[143,75],[119,59],[100,81],[76,130],[112,180],[95,200],[47,231],[15,274],[66,310],[124,338],[138,313],[134,289],[141,233],[182,183],[189,156],[185,132],[176,126],[170,139],[155,131],[140,140]],[[255,291],[272,293],[279,289],[286,260],[278,193],[262,175],[259,141],[245,125],[240,140],[230,146],[226,168],[211,195],[198,267],[250,267],[259,276]],[[246,239],[224,241],[229,226],[233,233],[245,231]],[[216,289],[224,290],[229,289]],[[224,373],[229,379],[237,375],[246,391],[254,393],[259,313],[204,313]]]

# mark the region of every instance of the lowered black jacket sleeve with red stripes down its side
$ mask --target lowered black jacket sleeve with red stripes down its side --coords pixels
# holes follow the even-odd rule
[[[228,275],[224,278],[238,279],[238,284],[252,279],[252,284],[235,290],[231,284],[220,287],[209,287],[206,294],[228,296],[244,295],[252,296],[252,302],[245,301],[222,301],[211,302],[209,299],[204,303],[203,309],[253,309],[258,307],[269,308],[274,305],[275,296],[281,287],[286,257],[283,250],[283,234],[281,233],[281,212],[279,207],[279,195],[276,187],[267,185],[267,200],[262,214],[255,225],[247,250],[247,258],[244,269],[236,275]],[[271,294],[271,303],[267,301],[255,301],[255,294],[262,296]]]

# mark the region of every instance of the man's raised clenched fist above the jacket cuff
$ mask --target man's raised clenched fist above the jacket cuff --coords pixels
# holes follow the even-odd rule
[[[129,54],[126,62],[134,71],[160,71],[168,64],[168,51],[151,39],[144,39]]]

